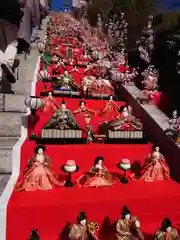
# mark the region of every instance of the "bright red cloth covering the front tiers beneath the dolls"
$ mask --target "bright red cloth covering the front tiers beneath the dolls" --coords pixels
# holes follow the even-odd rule
[[[38,82],[36,95],[43,90],[43,84]],[[62,98],[57,98],[57,104]],[[76,110],[78,99],[65,98],[67,108]],[[86,100],[87,107],[98,111],[104,107],[105,101]],[[123,102],[119,102],[121,106]],[[39,113],[39,122],[35,132],[40,135],[44,124],[51,114]],[[100,116],[95,116],[92,124],[94,131],[103,122]],[[107,120],[107,119],[106,119]],[[83,118],[77,117],[83,127]],[[30,125],[28,132],[30,131]],[[21,149],[21,173],[27,166],[27,161],[33,154],[35,143],[26,140]],[[105,158],[106,167],[112,172],[119,172],[116,164],[121,158],[129,158],[131,162],[143,163],[151,151],[151,144],[122,144],[122,145],[47,145],[47,155],[62,179],[65,175],[60,167],[67,160],[73,159],[79,165],[79,172],[73,174],[77,179],[87,172],[97,156]],[[120,216],[121,208],[127,205],[132,214],[138,216],[143,232],[152,235],[164,217],[169,217],[177,226],[180,223],[180,187],[173,181],[145,183],[143,181],[129,181],[127,185],[120,182],[110,188],[79,189],[78,187],[54,188],[50,191],[13,192],[7,207],[7,237],[6,240],[26,240],[30,231],[37,228],[41,240],[67,240],[66,227],[76,221],[80,210],[85,210],[90,220],[97,221],[102,227],[99,237],[102,240],[114,240],[105,222],[113,224]],[[105,217],[108,221],[104,221]],[[103,226],[106,226],[103,228]],[[146,238],[148,239],[148,238]]]

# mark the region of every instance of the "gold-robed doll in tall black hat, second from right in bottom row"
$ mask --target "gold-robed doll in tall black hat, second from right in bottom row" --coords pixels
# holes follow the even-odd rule
[[[140,222],[136,217],[131,216],[130,210],[124,206],[121,218],[116,222],[117,240],[144,240],[140,230]]]

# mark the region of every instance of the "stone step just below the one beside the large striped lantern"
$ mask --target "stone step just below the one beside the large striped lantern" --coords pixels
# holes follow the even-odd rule
[[[23,113],[0,112],[0,136],[20,137]]]

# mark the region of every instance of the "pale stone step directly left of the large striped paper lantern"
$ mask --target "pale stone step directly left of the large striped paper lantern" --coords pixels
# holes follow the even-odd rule
[[[24,104],[24,95],[0,94],[0,112],[26,113],[27,107]]]

